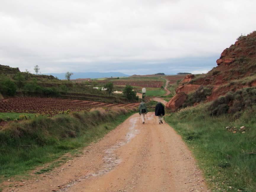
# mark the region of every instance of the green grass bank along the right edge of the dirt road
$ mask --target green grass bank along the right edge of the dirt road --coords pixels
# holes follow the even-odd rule
[[[171,114],[166,121],[182,135],[204,170],[212,191],[256,191],[256,108],[211,117],[205,104]],[[246,127],[233,133],[227,126]]]

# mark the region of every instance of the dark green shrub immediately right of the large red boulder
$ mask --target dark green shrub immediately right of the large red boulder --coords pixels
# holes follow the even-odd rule
[[[207,96],[211,95],[212,89],[200,86],[195,92],[190,93],[188,95],[188,99],[183,104],[183,107],[192,106],[195,103],[200,103],[201,101],[205,101]]]

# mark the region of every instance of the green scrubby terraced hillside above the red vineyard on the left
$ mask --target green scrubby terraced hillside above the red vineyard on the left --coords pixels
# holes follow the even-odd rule
[[[0,93],[5,96],[58,97],[105,103],[129,103],[133,100],[123,95],[110,95],[101,89],[95,89],[95,81],[76,83],[59,80],[52,75],[34,75],[20,72],[18,68],[0,65]],[[106,84],[106,83],[105,83]],[[102,87],[105,85],[102,84]],[[115,88],[113,89],[115,91]],[[135,99],[136,100],[136,99]]]

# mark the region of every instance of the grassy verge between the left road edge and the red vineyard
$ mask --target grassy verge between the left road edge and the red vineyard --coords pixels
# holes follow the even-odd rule
[[[99,109],[12,123],[0,130],[0,182],[86,146],[133,113],[126,109]]]

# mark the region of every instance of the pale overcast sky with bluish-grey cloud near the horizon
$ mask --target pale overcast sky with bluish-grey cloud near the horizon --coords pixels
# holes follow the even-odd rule
[[[256,30],[255,0],[0,0],[0,64],[33,72],[207,72]]]

